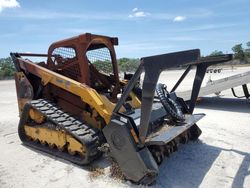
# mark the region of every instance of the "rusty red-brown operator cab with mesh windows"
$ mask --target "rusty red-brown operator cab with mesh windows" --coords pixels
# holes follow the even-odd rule
[[[84,83],[116,102],[120,81],[114,45],[118,39],[82,34],[53,43],[48,51],[49,69]]]

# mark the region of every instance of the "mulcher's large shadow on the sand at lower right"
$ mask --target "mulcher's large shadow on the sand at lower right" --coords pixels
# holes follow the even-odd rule
[[[232,183],[232,187],[243,187],[245,177],[250,174],[250,154],[214,147],[201,141],[181,147],[165,160],[160,166],[160,174],[153,187],[199,187],[221,151],[236,152],[244,156]]]

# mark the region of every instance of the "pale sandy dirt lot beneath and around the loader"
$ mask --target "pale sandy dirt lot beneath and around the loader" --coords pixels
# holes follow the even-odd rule
[[[230,68],[207,74],[206,80],[240,73],[249,68]],[[180,71],[170,71],[161,80],[173,85]],[[190,86],[191,79],[184,83]],[[239,89],[238,92],[241,92]],[[197,142],[181,146],[166,159],[152,187],[250,187],[250,103],[233,98],[230,91],[199,102],[196,113],[203,133]],[[104,174],[92,177],[88,167],[38,152],[22,145],[17,134],[18,108],[14,81],[0,82],[0,187],[141,187],[110,177],[109,162],[92,164]]]

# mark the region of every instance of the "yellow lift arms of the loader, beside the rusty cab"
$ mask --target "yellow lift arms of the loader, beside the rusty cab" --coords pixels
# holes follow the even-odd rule
[[[33,73],[42,79],[43,85],[51,83],[59,88],[62,88],[81,97],[81,100],[83,102],[89,104],[98,112],[98,114],[100,114],[100,116],[105,120],[106,124],[109,123],[115,104],[109,101],[105,96],[97,93],[96,90],[90,88],[86,84],[79,83],[73,79],[70,79],[66,76],[53,72],[29,61],[23,59],[20,59],[20,61],[28,64],[31,67],[31,70],[34,70]],[[135,96],[135,94],[131,93],[130,97],[132,98],[132,101],[130,102],[131,105],[134,108],[140,107],[141,102]]]

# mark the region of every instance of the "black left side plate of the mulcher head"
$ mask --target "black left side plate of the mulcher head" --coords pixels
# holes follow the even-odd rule
[[[126,178],[150,184],[158,174],[158,165],[147,147],[138,149],[129,126],[129,121],[125,123],[119,118],[112,119],[103,133],[109,143],[112,157],[116,159]]]

